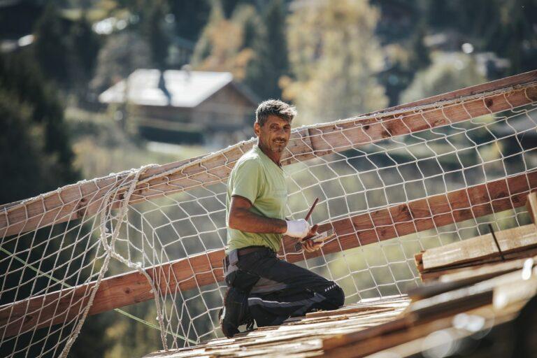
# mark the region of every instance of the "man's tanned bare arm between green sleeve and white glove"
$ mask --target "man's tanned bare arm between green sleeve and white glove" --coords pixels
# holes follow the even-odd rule
[[[243,196],[231,196],[231,207],[227,224],[231,229],[257,234],[284,234],[287,222],[252,213],[252,203]]]

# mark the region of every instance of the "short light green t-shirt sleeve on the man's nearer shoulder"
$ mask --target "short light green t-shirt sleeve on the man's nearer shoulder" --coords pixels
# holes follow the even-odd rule
[[[231,196],[238,195],[254,203],[262,190],[262,166],[256,160],[239,164],[233,180]]]

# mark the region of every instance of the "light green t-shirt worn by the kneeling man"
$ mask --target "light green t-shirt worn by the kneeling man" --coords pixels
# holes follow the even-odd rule
[[[252,203],[250,211],[257,215],[285,219],[287,186],[283,170],[257,145],[246,152],[229,175],[226,196],[226,222],[229,217],[231,196],[243,196]],[[253,234],[227,227],[226,252],[246,246],[266,246],[280,250],[281,234]]]

